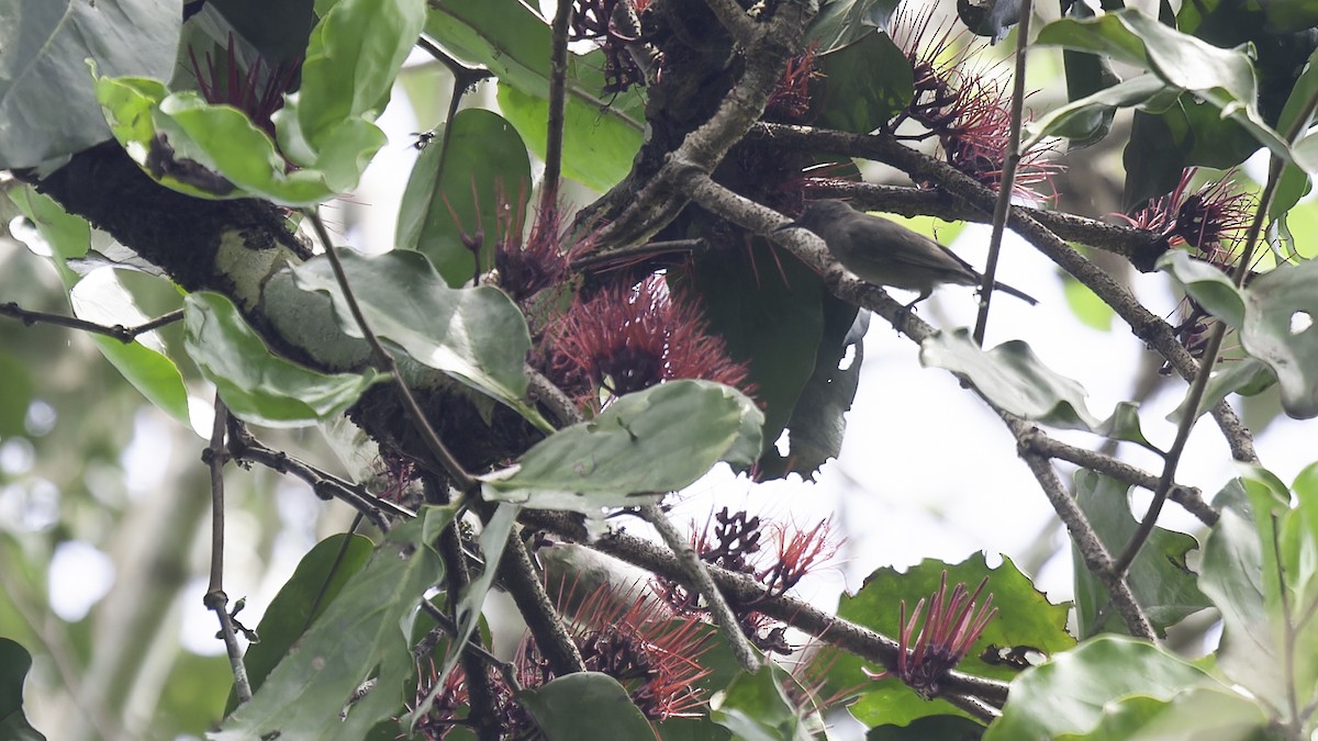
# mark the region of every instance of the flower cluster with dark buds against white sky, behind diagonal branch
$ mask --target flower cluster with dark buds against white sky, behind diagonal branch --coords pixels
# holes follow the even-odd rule
[[[774,542],[772,551],[763,548],[766,534]],[[746,574],[764,585],[766,596],[775,597],[796,587],[812,567],[830,559],[838,543],[832,537],[832,522],[828,519],[803,530],[766,523],[759,517],[725,506],[713,513],[700,533],[692,531],[691,547],[702,562]],[[676,581],[656,579],[655,589],[681,614],[708,610],[700,595]],[[733,609],[741,618],[742,630],[759,649],[791,653],[784,626],[757,612],[754,605],[733,605]]]

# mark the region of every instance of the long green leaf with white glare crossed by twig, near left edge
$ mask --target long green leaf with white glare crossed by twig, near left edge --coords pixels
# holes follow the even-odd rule
[[[58,270],[59,278],[65,282],[66,289],[72,290],[79,282],[79,276],[70,270],[65,265],[65,261],[82,257],[87,253],[87,248],[91,244],[91,228],[87,222],[80,216],[65,212],[58,203],[30,189],[14,191],[14,203],[37,225],[38,232],[46,240],[46,245],[54,256],[55,270]],[[115,283],[117,285],[117,282]],[[74,306],[75,315],[91,322],[109,322],[111,326],[133,326],[148,319],[148,316],[133,306],[130,297],[121,287],[116,294],[113,303],[115,314],[112,316],[95,314],[96,305],[92,303],[82,303],[80,310],[87,314],[82,315],[79,314],[79,305],[74,303],[72,297],[70,303]],[[183,377],[169,357],[158,349],[142,344],[144,341],[152,341],[150,335],[138,336],[136,341],[129,344],[99,335],[94,336],[92,341],[96,343],[105,360],[119,369],[124,378],[152,403],[185,425],[190,422],[187,389],[183,385]],[[159,348],[159,343],[156,343],[156,348]]]

